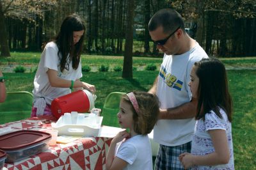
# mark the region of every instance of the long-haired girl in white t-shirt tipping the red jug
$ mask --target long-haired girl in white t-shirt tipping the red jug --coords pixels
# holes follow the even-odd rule
[[[81,18],[69,15],[55,40],[45,46],[34,79],[31,116],[51,116],[52,100],[67,95],[72,88],[95,92],[95,86],[80,81],[84,31]]]

